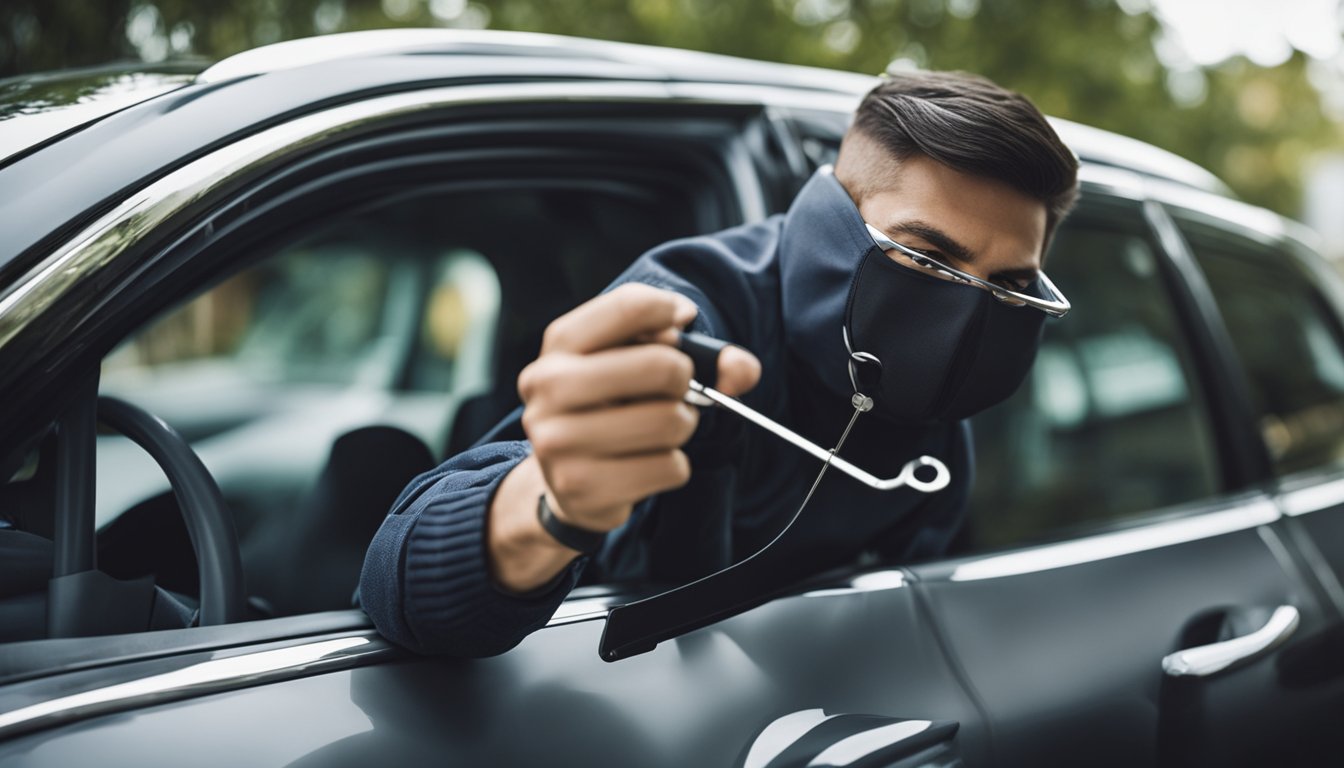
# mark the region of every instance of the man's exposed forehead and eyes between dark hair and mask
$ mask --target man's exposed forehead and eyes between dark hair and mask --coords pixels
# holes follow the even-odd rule
[[[1042,202],[922,155],[902,160],[894,183],[870,191],[859,213],[892,241],[1004,288],[1030,285],[1042,266]],[[915,266],[899,252],[887,256]]]

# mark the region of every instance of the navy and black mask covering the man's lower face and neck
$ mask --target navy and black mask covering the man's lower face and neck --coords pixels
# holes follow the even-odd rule
[[[829,168],[789,208],[780,278],[792,354],[837,402],[849,402],[856,378],[875,413],[902,424],[956,421],[1008,398],[1046,319],[891,261]],[[880,366],[853,363],[847,377],[855,352]]]

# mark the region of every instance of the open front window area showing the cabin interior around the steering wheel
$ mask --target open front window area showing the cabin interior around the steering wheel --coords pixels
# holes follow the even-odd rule
[[[698,229],[689,192],[431,188],[247,250],[226,241],[214,256],[249,265],[129,335],[101,391],[199,453],[234,515],[254,617],[348,608],[406,483],[517,405],[551,319]],[[194,596],[163,471],[117,434],[99,434],[97,463],[99,566]]]

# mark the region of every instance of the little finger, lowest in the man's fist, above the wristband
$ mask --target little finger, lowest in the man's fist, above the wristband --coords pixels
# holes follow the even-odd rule
[[[684,486],[691,461],[681,451],[660,451],[618,459],[575,456],[543,464],[542,471],[567,521],[610,530],[621,525],[613,511]]]

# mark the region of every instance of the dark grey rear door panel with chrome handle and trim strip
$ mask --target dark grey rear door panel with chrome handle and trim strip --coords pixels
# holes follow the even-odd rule
[[[1191,628],[1208,616],[1296,605],[1309,628],[1289,643],[1328,623],[1301,574],[1263,541],[1278,519],[1267,499],[1177,515],[1039,549],[914,566],[950,652],[989,713],[997,763],[1152,765],[1192,741],[1198,753],[1219,745],[1236,755],[1236,745],[1263,748],[1277,741],[1270,733],[1292,734],[1312,712],[1316,701],[1294,699],[1271,660],[1185,683],[1187,698],[1200,685],[1246,686],[1224,699],[1239,702],[1235,718],[1223,712],[1202,720],[1172,701],[1181,683],[1164,675],[1163,658],[1196,644]],[[1259,703],[1269,699],[1278,702],[1273,717]],[[1255,717],[1253,730],[1228,725]]]

